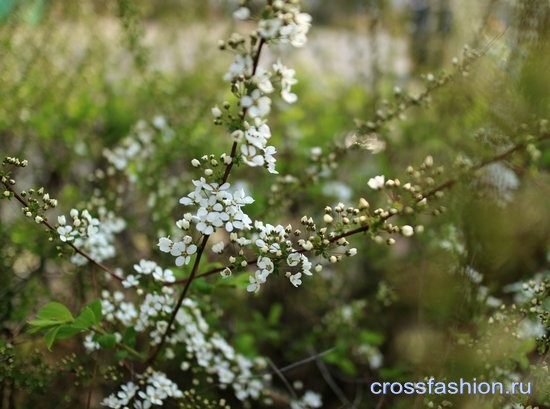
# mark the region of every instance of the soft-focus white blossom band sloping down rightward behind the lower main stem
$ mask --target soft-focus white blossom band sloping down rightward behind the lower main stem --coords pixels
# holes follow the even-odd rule
[[[150,262],[141,263],[135,268],[156,270],[156,267],[149,266],[148,263]],[[120,291],[110,293],[104,290],[101,300],[103,315],[108,322],[118,322],[138,333],[148,332],[150,344],[158,345],[168,326],[167,317],[174,309],[174,290],[171,287],[162,287],[160,292],[153,291],[143,296],[143,292],[138,289],[137,295],[141,297],[141,305],[136,305]],[[122,338],[118,333],[115,333],[115,336],[117,340]],[[94,333],[88,334],[85,338],[84,346],[89,352],[100,349],[94,338]],[[167,345],[167,359],[174,359],[182,354],[186,356],[186,359],[180,362],[182,371],[193,367],[190,361],[194,361],[206,374],[216,376],[217,383],[231,385],[235,396],[240,400],[259,398],[266,386],[263,380],[254,376],[257,371],[265,369],[265,360],[250,360],[237,353],[220,334],[211,331],[197,303],[189,298],[183,301],[175,316],[174,331],[167,338]],[[176,354],[175,351],[179,353]],[[145,393],[149,392],[152,392],[152,389],[147,388]],[[118,394],[117,396],[120,398]],[[117,396],[111,395],[108,402],[114,404]]]

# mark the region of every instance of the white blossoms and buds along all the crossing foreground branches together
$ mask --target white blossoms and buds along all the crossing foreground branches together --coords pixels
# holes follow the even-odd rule
[[[251,18],[246,2],[234,16],[239,20]],[[170,362],[176,357],[178,362],[175,366],[181,371],[189,370],[192,365],[198,366],[215,378],[216,383],[231,385],[238,399],[258,399],[268,385],[266,380],[255,378],[253,373],[263,369],[265,362],[238,354],[224,337],[208,325],[198,304],[189,298],[191,282],[201,275],[201,259],[209,252],[211,256],[218,257],[231,247],[233,252],[226,255],[227,265],[216,271],[228,276],[253,265],[247,285],[249,292],[259,291],[271,276],[278,275],[286,277],[291,286],[299,287],[307,276],[321,271],[322,264],[318,260],[337,263],[357,253],[355,248],[349,246],[348,236],[368,232],[374,241],[392,245],[395,243],[392,235],[410,237],[420,233],[422,226],[394,225],[389,220],[394,216],[406,217],[426,207],[428,200],[435,201],[442,195],[443,189],[456,182],[451,180],[435,185],[436,177],[442,171],[434,167],[431,157],[427,157],[418,169],[410,168],[410,181],[406,183],[387,179],[383,175],[374,176],[366,182],[371,189],[387,195],[385,208],[371,210],[366,199],[360,199],[357,206],[338,203],[325,208],[322,222],[315,222],[308,216],[302,217],[300,228],[253,220],[246,213],[247,205],[254,199],[244,189],[231,184],[232,167],[244,164],[277,173],[276,148],[270,145],[271,129],[267,122],[272,97],[278,94],[287,103],[297,100],[292,91],[296,83],[294,70],[281,61],[263,65],[260,58],[262,50],[272,44],[301,47],[306,42],[310,23],[311,18],[301,12],[298,2],[268,1],[257,30],[247,36],[233,34],[220,44],[222,49],[234,56],[224,75],[234,99],[220,104],[221,108],[213,107],[212,115],[216,124],[227,128],[231,149],[228,153],[206,154],[193,159],[192,166],[201,174],[193,180],[193,188],[180,199],[183,211],[174,231],[158,240],[159,250],[172,255],[174,264],[187,272],[187,277],[178,281],[172,270],[150,260],[140,260],[132,271],[110,274],[120,281],[123,290],[102,292],[100,315],[104,323],[97,324],[97,315],[92,312],[94,317],[88,322],[93,325],[87,324],[86,329],[90,331],[84,346],[90,353],[107,344],[118,346],[137,358],[146,369],[140,374],[133,374],[131,382],[121,385],[106,397],[102,402],[104,406],[149,408],[164,405],[170,399],[181,399],[184,393],[179,386],[165,373],[154,369],[161,358]],[[105,155],[118,168],[118,165],[123,167],[124,161],[131,159],[136,152],[134,145],[128,144],[126,150],[105,152]],[[505,152],[508,153],[513,153],[513,150]],[[503,157],[500,155],[493,162]],[[489,164],[483,162],[470,170],[479,170]],[[9,188],[11,180],[3,176],[2,183],[7,188],[6,197],[16,195]],[[53,206],[53,199],[47,193],[39,192],[39,195],[41,199],[36,199],[36,203],[41,201],[44,210],[47,206]],[[25,202],[23,197],[16,197],[21,203],[30,203]],[[23,211],[36,223],[55,231],[60,241],[77,251],[72,260],[75,264],[93,262],[108,271],[100,261],[114,255],[114,247],[110,247],[113,234],[124,227],[123,222],[114,219],[110,227],[109,223],[106,227],[101,216],[104,219],[113,219],[114,216],[100,214],[99,218],[94,218],[87,210],[73,210],[70,212],[72,222],[61,216],[54,228],[37,209],[36,206],[26,206]],[[441,208],[432,210],[442,211]],[[209,243],[214,233],[221,233],[224,239]],[[310,259],[306,253],[315,253],[318,260]],[[202,275],[206,274],[208,272]],[[179,292],[177,284],[183,284]],[[147,354],[134,349],[137,345],[135,341],[133,345],[125,341],[132,333],[140,334],[147,340]],[[185,358],[181,359],[182,356]],[[320,398],[312,392],[306,392],[303,398],[289,404],[293,408],[304,409],[322,405]]]

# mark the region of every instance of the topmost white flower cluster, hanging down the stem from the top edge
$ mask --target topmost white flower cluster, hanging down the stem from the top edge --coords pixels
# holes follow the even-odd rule
[[[235,18],[246,20],[250,10],[242,6],[234,13]],[[301,47],[306,43],[307,32],[311,25],[311,16],[302,13],[294,1],[274,1],[266,7],[258,23],[258,32],[250,35],[248,40],[240,34],[233,34],[222,48],[235,52],[233,63],[224,75],[230,81],[234,95],[238,98],[240,124],[235,125],[231,114],[224,114],[218,107],[212,109],[215,122],[222,124],[223,119],[232,128],[232,136],[240,143],[240,154],[248,166],[265,166],[270,173],[275,170],[274,146],[267,144],[271,132],[265,117],[271,111],[269,97],[277,88],[282,99],[294,103],[298,98],[292,92],[296,84],[295,71],[277,61],[269,68],[258,66],[258,56],[264,43],[289,43]],[[259,38],[258,38],[259,36]],[[229,104],[224,104],[229,108]],[[244,120],[245,118],[248,120]]]

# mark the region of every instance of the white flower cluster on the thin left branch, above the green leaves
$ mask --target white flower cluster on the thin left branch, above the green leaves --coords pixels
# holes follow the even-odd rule
[[[103,207],[99,208],[98,213],[99,218],[96,218],[87,209],[82,212],[72,209],[69,213],[72,222],[67,222],[63,215],[59,216],[56,231],[61,241],[72,242],[94,260],[103,261],[115,255],[115,234],[124,230],[126,223]],[[79,266],[88,263],[78,253],[71,257],[71,261]]]

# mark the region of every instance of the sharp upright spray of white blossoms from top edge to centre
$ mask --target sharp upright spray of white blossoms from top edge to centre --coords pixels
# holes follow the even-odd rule
[[[239,20],[250,18],[246,3],[234,16]],[[293,286],[299,286],[303,276],[311,275],[312,263],[297,252],[288,239],[288,228],[258,220],[253,222],[245,212],[246,205],[252,203],[253,198],[243,189],[234,189],[228,181],[235,163],[263,167],[270,173],[277,173],[277,150],[269,144],[271,129],[267,115],[271,111],[273,94],[279,93],[287,103],[297,100],[292,92],[297,80],[294,78],[295,71],[280,60],[263,66],[260,55],[264,47],[272,44],[303,46],[310,24],[311,17],[300,11],[298,2],[268,2],[257,31],[248,36],[235,33],[229,40],[220,43],[221,49],[234,55],[224,79],[230,83],[235,100],[233,103],[225,101],[221,108],[213,107],[212,115],[216,124],[225,125],[228,129],[233,142],[231,152],[219,156],[205,155],[192,161],[203,176],[193,180],[195,189],[180,199],[186,212],[176,222],[175,234],[161,237],[158,242],[159,249],[172,254],[178,266],[190,264],[195,257],[187,282],[194,278],[208,238],[218,230],[223,230],[229,242],[239,248],[237,255],[229,257],[231,267],[224,269],[224,276],[247,266],[242,257],[246,247],[261,255],[256,262],[257,270],[250,277],[248,291],[257,291],[275,271],[280,260],[286,260],[289,271],[285,275]],[[196,238],[197,232],[202,239]],[[223,241],[215,243],[211,251],[221,254],[228,244]]]

